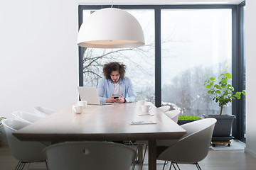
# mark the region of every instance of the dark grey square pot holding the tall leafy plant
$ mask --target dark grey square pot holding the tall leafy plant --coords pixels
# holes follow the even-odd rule
[[[217,123],[213,130],[213,140],[231,140],[233,137],[230,136],[233,120],[235,115],[206,115],[203,114],[204,118],[215,118]],[[224,140],[225,141],[225,140]]]

